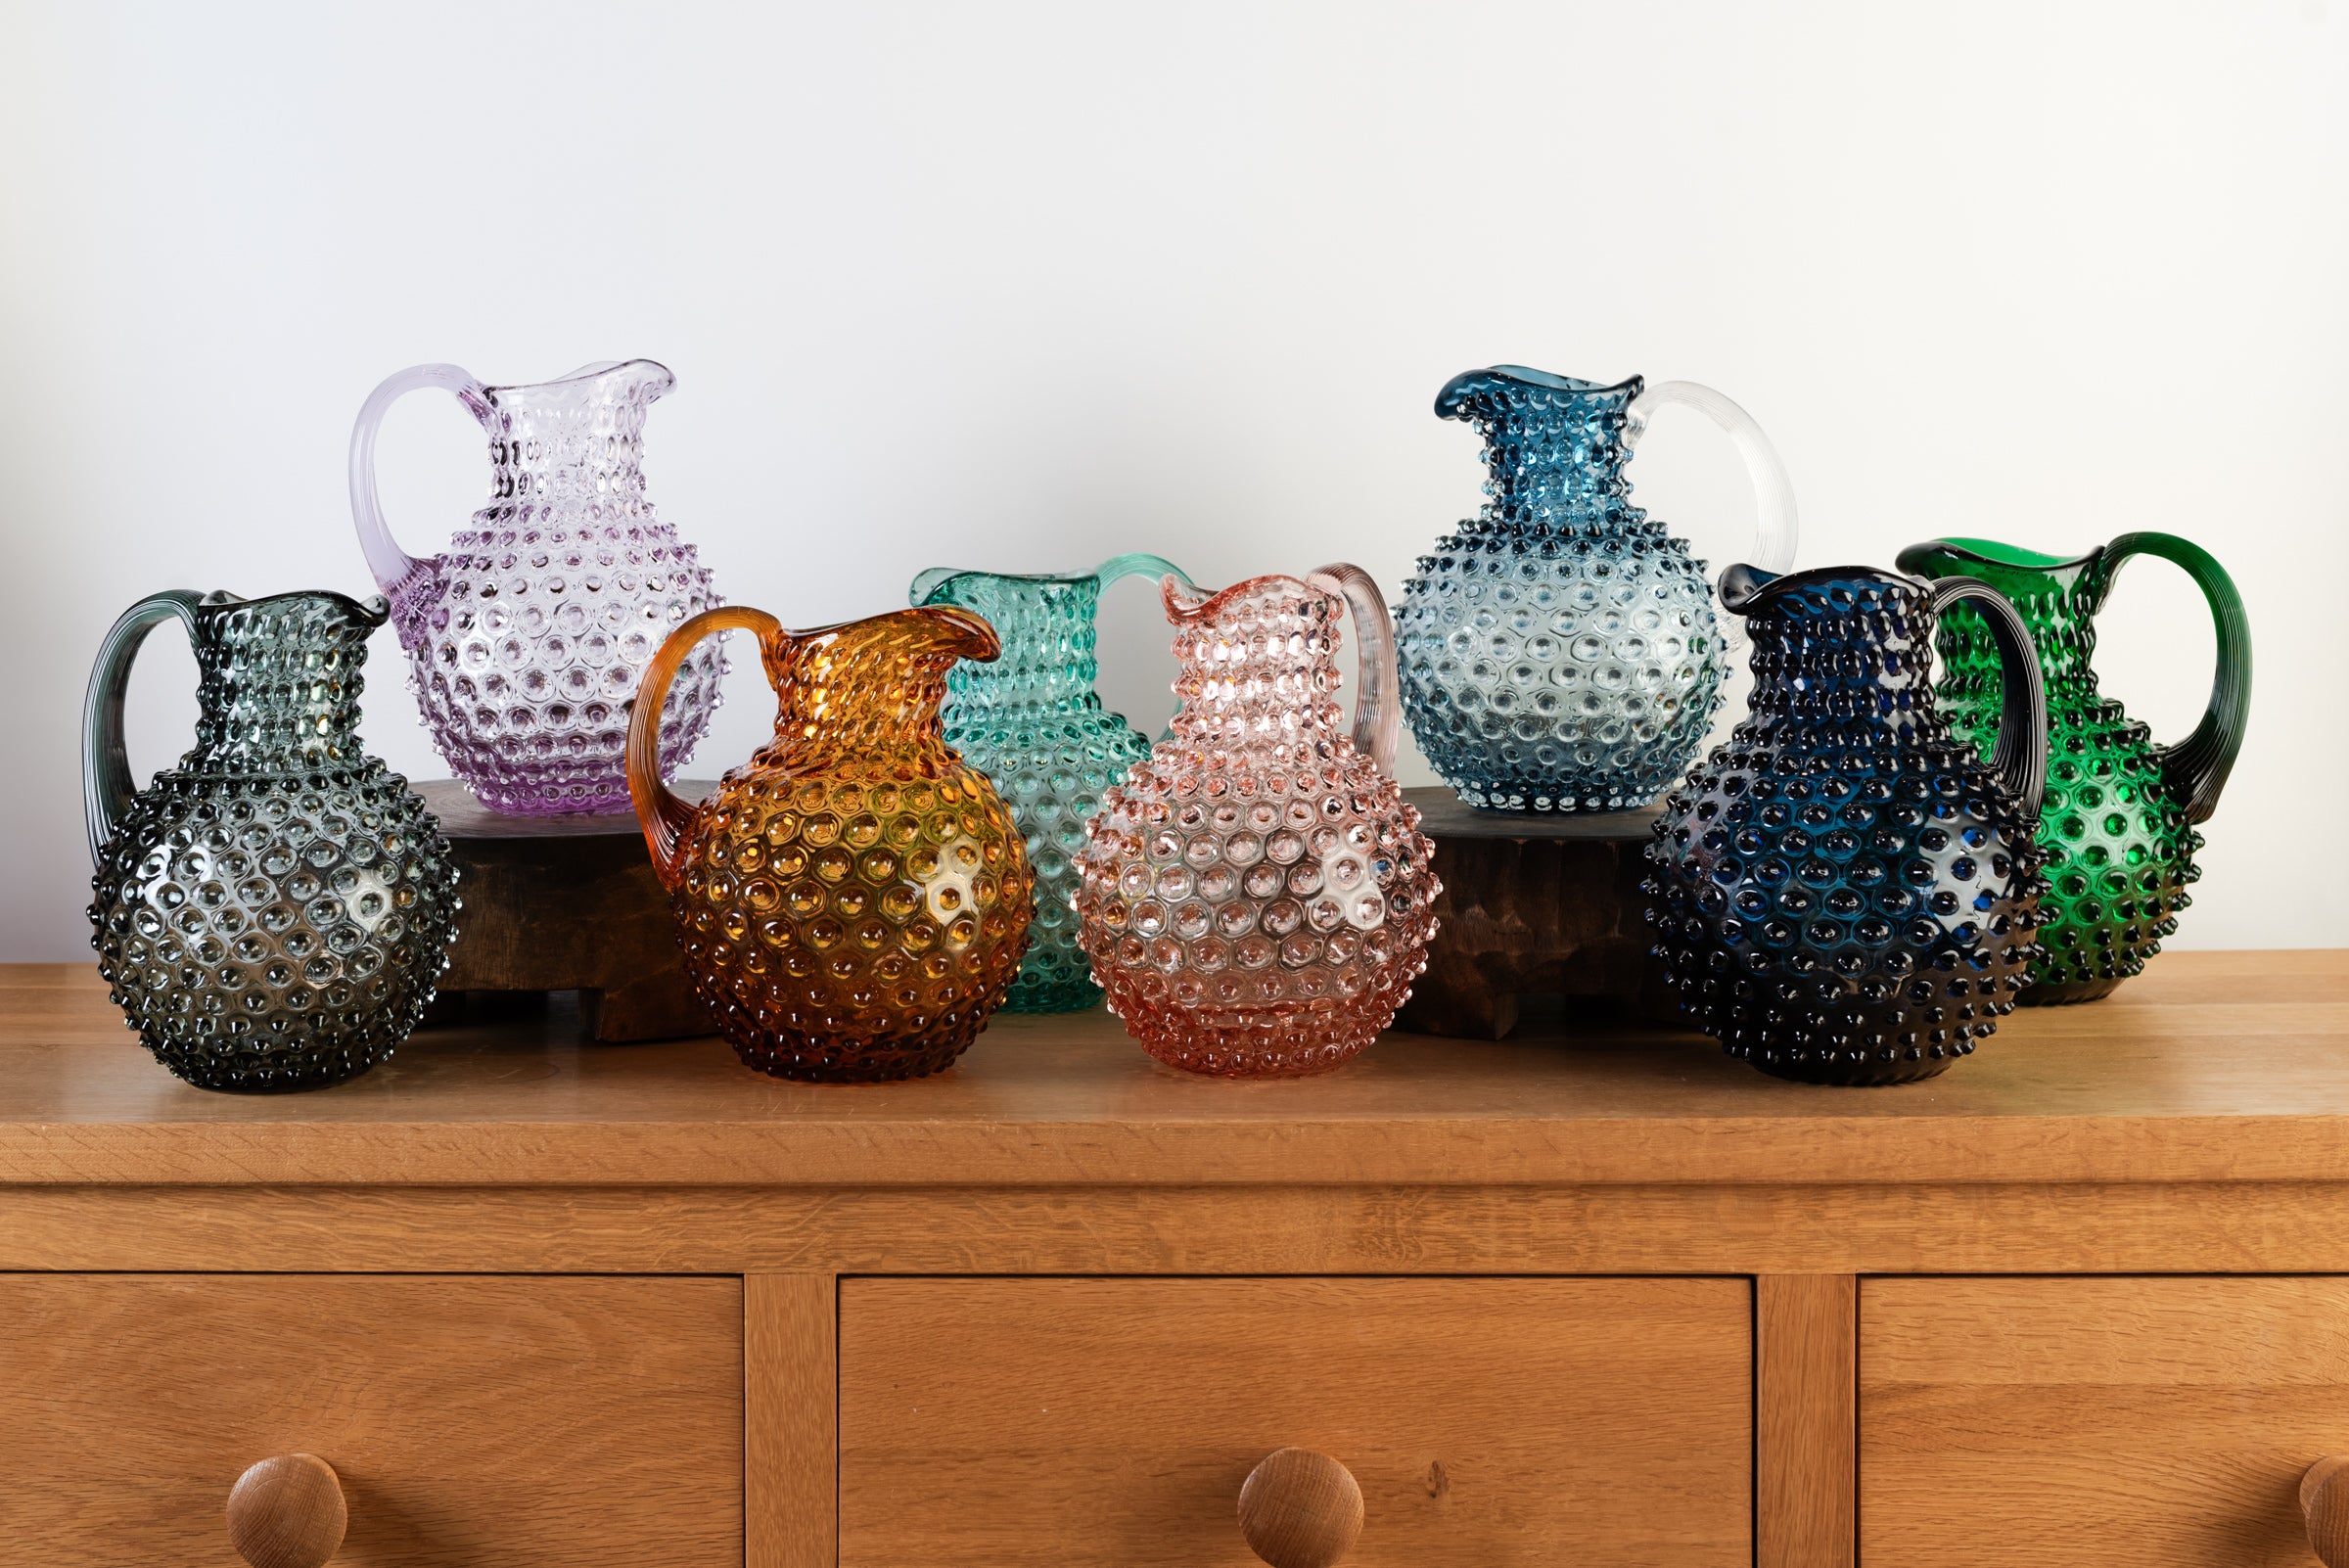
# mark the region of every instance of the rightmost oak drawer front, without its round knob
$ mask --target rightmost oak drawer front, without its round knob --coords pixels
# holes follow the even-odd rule
[[[2349,1279],[1867,1279],[1863,1568],[2309,1554],[2349,1451]]]

